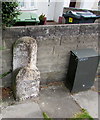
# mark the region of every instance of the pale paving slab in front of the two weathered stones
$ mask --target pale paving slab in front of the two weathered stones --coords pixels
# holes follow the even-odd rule
[[[8,106],[2,110],[3,118],[42,118],[39,105],[35,102]]]

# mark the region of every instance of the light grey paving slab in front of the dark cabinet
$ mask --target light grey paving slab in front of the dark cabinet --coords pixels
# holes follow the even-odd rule
[[[98,118],[98,93],[92,90],[79,92],[72,95],[73,99],[93,118]]]

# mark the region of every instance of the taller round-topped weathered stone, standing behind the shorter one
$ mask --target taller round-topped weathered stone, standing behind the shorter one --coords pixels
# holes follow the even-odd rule
[[[13,48],[13,70],[27,66],[31,62],[31,66],[36,65],[37,43],[31,37],[22,37],[18,39]]]

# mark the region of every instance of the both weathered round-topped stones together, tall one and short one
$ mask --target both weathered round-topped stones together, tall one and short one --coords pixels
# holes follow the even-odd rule
[[[18,39],[13,49],[13,71],[16,75],[16,99],[24,100],[39,94],[40,72],[36,67],[37,43],[31,37]]]

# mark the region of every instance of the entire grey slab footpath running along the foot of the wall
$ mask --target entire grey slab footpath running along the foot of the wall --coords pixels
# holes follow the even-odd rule
[[[64,85],[50,86],[40,91],[39,100],[12,105],[2,110],[3,118],[43,118],[46,112],[51,118],[72,118],[81,111],[88,110],[97,117],[98,96],[91,90],[71,95]]]

